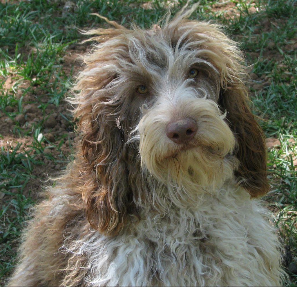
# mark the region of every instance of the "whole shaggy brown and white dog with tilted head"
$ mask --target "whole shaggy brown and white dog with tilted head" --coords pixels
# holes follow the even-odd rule
[[[76,158],[36,207],[9,286],[281,284],[242,54],[192,10],[86,32]]]

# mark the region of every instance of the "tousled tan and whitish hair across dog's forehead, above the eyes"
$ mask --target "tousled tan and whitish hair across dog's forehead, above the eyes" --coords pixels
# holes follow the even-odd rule
[[[183,20],[143,30],[137,26],[100,30],[99,45],[85,57],[87,69],[112,64],[108,74],[128,83],[181,82],[195,68],[225,87],[241,70],[241,53],[218,25]],[[101,67],[101,68],[100,68]],[[138,79],[137,81],[135,79]]]

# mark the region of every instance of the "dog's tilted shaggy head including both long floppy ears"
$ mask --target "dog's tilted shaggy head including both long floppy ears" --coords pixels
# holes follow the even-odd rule
[[[188,20],[191,12],[151,30],[107,20],[113,28],[87,33],[97,44],[72,103],[83,136],[81,192],[102,232],[123,227],[141,191],[155,192],[152,181],[216,185],[235,169],[252,197],[269,189],[241,52],[218,25]]]

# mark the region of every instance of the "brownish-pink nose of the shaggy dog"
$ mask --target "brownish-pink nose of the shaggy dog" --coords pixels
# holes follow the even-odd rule
[[[197,123],[195,120],[185,118],[169,123],[166,128],[166,135],[173,142],[178,144],[188,143],[195,136]]]

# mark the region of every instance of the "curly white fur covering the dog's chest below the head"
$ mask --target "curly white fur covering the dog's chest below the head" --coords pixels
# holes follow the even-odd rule
[[[94,231],[62,250],[87,256],[89,286],[274,286],[279,243],[269,212],[241,188],[204,199],[164,217],[148,210],[123,235]]]

